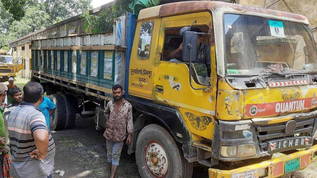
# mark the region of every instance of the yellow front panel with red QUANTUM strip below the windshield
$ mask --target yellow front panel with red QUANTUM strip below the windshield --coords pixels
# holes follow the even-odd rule
[[[317,85],[246,90],[243,118],[282,116],[316,108]]]

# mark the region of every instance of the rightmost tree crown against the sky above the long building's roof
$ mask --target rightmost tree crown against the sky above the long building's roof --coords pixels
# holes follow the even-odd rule
[[[41,3],[52,20],[57,20],[58,17],[65,20],[93,9],[93,6],[90,5],[91,1],[92,0],[41,0]]]

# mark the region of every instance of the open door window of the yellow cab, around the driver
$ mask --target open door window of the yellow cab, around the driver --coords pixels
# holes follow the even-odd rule
[[[175,51],[178,50],[178,48],[180,47],[180,44],[183,42],[183,36],[179,35],[180,29],[181,28],[173,28],[173,29],[165,30],[162,60],[168,60],[171,62],[181,62],[181,63],[185,63],[189,65],[188,62],[183,62],[181,50],[175,53]],[[192,27],[192,29],[199,29],[203,33],[208,33],[208,30],[209,30],[207,26]],[[210,70],[209,70],[209,73],[207,72],[208,71],[207,67],[209,67],[210,69],[209,37],[207,35],[202,36],[201,41],[198,44],[199,44],[199,47],[197,47],[197,59],[192,60],[192,65],[191,65],[191,68],[194,71],[193,73],[194,76],[192,77],[195,80],[195,82],[198,84],[209,85]],[[208,50],[206,50],[207,48]],[[207,60],[209,62],[206,62]]]

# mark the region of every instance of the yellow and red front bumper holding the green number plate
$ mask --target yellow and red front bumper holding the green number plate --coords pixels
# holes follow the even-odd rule
[[[315,140],[316,141],[316,140]],[[295,170],[290,171],[288,169],[288,173],[292,173],[294,171],[302,170],[306,168],[308,165],[312,164],[316,161],[313,160],[315,156],[315,152],[317,151],[317,145],[314,145],[305,150],[300,150],[295,153],[281,156],[278,158],[270,159],[267,161],[263,161],[260,163],[252,164],[249,166],[244,166],[241,168],[236,168],[232,170],[219,170],[219,169],[209,169],[209,177],[210,178],[275,178],[285,175],[285,164],[288,161],[299,159],[299,168],[295,168]],[[317,155],[317,153],[316,153]],[[260,170],[266,169],[267,175],[260,176]],[[292,170],[292,169],[291,169]],[[287,174],[288,174],[287,173]]]

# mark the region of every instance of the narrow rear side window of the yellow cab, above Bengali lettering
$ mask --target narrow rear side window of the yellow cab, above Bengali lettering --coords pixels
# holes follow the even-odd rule
[[[153,21],[143,22],[140,28],[138,59],[148,59],[151,47]]]

